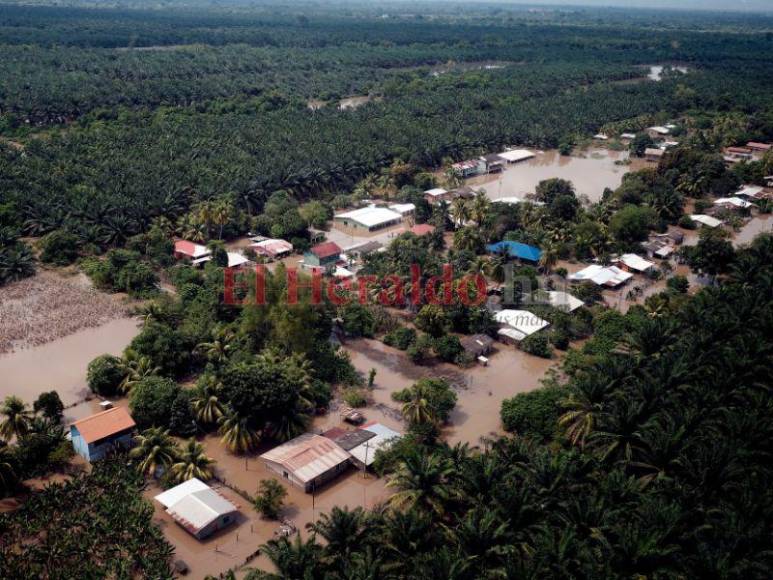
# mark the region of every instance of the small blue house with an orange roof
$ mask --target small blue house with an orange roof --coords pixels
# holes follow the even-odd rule
[[[114,407],[70,425],[75,453],[86,461],[104,459],[111,451],[131,447],[137,425],[124,407]]]

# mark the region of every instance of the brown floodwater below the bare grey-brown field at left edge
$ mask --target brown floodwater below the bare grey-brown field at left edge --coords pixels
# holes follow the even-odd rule
[[[134,318],[117,318],[64,338],[0,354],[0,398],[18,395],[32,403],[40,393],[56,390],[71,405],[91,394],[86,385],[88,364],[101,354],[119,355],[139,333]]]

